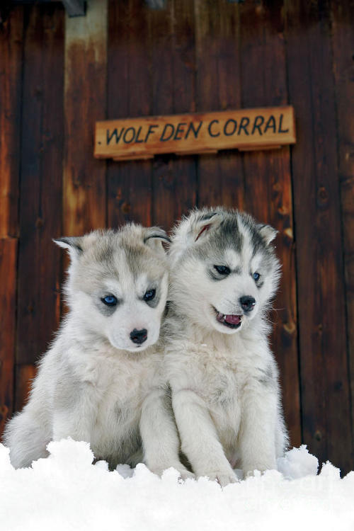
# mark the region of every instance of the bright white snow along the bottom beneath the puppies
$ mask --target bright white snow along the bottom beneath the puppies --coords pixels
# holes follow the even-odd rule
[[[143,464],[109,472],[86,442],[50,442],[50,457],[15,470],[0,445],[1,531],[354,530],[354,472],[341,479],[305,446],[224,489],[200,478],[155,476]]]

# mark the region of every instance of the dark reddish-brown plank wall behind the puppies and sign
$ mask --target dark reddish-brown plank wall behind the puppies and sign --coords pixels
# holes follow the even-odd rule
[[[0,28],[0,428],[62,312],[51,239],[193,205],[276,227],[272,314],[292,444],[354,467],[353,0],[89,0],[17,6]],[[96,120],[295,106],[268,152],[93,159]]]

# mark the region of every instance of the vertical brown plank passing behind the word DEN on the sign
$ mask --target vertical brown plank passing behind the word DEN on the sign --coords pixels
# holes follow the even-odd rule
[[[171,1],[166,9],[149,10],[153,114],[194,110],[193,39],[192,2]],[[156,156],[152,168],[152,220],[169,230],[195,205],[195,161]]]

